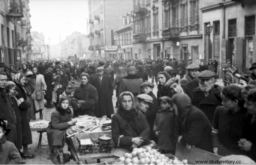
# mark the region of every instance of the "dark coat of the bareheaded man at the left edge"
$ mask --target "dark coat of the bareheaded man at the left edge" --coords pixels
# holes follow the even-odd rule
[[[6,136],[6,139],[10,142],[15,142],[16,140],[16,117],[15,117],[15,111],[12,107],[12,101],[11,98],[7,95],[6,89],[1,89],[5,92],[5,98],[0,94],[0,119],[7,120],[8,124],[12,126],[12,130],[9,132],[8,136]],[[1,92],[2,93],[2,92]]]

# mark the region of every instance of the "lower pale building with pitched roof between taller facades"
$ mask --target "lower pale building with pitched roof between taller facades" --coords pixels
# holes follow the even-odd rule
[[[133,29],[133,23],[132,23],[132,17],[131,13],[127,13],[126,15],[123,15],[123,25],[116,30],[115,35],[117,35],[116,44],[117,47],[117,57],[113,58],[119,58],[119,59],[131,59],[133,57],[132,53],[132,29]]]

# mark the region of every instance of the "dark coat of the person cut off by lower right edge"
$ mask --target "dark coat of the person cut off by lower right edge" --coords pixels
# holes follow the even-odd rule
[[[247,155],[256,161],[256,118],[251,114],[247,114],[244,124],[244,137],[252,143],[250,151],[247,151]]]

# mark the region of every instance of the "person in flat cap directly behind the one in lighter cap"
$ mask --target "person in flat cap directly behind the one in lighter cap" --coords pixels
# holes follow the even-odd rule
[[[153,98],[153,104],[149,105],[148,110],[145,113],[145,116],[147,118],[150,130],[151,130],[149,137],[151,140],[154,140],[155,142],[157,142],[157,137],[153,133],[153,127],[154,127],[154,120],[156,119],[156,114],[159,109],[158,109],[157,98],[153,93],[154,84],[149,81],[146,81],[143,84],[141,84],[140,87],[142,88],[142,92],[144,94],[147,94]]]

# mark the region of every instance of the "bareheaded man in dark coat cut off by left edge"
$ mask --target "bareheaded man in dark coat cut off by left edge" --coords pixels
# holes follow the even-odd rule
[[[6,136],[6,140],[15,142],[16,140],[16,117],[12,107],[11,98],[6,93],[6,72],[0,72],[0,119],[7,120],[8,124],[12,126],[12,130]]]

